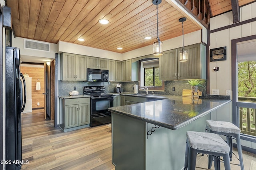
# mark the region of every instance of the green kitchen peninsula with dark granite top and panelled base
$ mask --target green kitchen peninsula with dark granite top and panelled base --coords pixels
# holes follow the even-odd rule
[[[230,101],[169,96],[110,107],[112,162],[116,170],[183,169],[186,131],[204,131],[205,121],[211,115],[229,111]]]

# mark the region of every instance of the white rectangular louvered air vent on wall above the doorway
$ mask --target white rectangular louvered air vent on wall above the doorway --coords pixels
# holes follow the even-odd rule
[[[42,43],[41,41],[24,39],[24,49],[50,52],[50,43]]]

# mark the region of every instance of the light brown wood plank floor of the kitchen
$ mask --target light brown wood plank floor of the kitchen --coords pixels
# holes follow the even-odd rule
[[[44,119],[44,110],[22,113],[22,158],[28,170],[114,170],[111,128],[106,125],[65,132]],[[236,148],[234,154],[238,156]],[[245,170],[256,169],[256,155],[243,151]],[[232,170],[240,170],[233,156]],[[196,170],[207,169],[207,156],[198,154]],[[212,166],[214,169],[214,166]],[[221,163],[221,169],[224,164]]]

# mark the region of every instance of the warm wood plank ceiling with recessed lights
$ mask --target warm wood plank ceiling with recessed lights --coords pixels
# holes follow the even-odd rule
[[[184,17],[169,0],[159,4],[158,29],[161,41],[182,35]],[[186,3],[188,0],[177,0]],[[200,4],[201,0],[189,0]],[[202,0],[208,3],[208,0]],[[209,0],[212,16],[228,11],[220,8],[230,0]],[[239,0],[246,4],[252,0]],[[179,2],[179,3],[180,3]],[[65,41],[117,53],[125,53],[156,41],[156,5],[152,0],[6,0],[12,10],[17,37],[58,43]],[[240,4],[239,4],[240,5]],[[213,8],[214,7],[214,8]],[[189,9],[188,11],[190,11]],[[100,19],[109,23],[102,25]],[[195,21],[184,22],[184,34],[201,29]],[[152,39],[145,40],[150,36]],[[84,38],[85,41],[78,41]],[[122,50],[118,50],[122,47]]]

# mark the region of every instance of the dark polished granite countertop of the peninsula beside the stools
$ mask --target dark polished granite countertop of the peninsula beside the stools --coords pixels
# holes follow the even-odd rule
[[[145,96],[144,96],[145,97]],[[231,100],[165,96],[168,99],[127,106],[110,107],[109,111],[176,130],[224,106]]]

